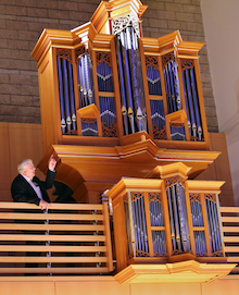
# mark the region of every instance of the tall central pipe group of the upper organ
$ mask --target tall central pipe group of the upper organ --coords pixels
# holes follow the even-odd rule
[[[147,131],[141,59],[135,29],[127,26],[116,34],[115,44],[124,134]]]

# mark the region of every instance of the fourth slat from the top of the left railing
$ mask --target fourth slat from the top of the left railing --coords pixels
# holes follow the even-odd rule
[[[1,241],[50,241],[50,242],[104,242],[104,235],[28,235],[0,234]]]

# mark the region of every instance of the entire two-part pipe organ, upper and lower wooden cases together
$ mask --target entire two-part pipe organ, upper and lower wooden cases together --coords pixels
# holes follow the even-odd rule
[[[223,182],[192,181],[219,155],[210,151],[203,44],[178,30],[143,37],[146,9],[102,1],[88,23],[43,30],[32,53],[46,153],[38,167],[53,152],[58,181],[80,202],[100,202],[113,186],[118,282],[215,280],[231,269],[218,225]]]

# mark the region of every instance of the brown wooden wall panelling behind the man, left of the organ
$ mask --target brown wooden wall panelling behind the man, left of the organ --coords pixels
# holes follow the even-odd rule
[[[11,183],[22,159],[37,164],[43,157],[42,132],[38,124],[0,123],[0,200],[11,201]],[[38,177],[43,174],[36,171]]]

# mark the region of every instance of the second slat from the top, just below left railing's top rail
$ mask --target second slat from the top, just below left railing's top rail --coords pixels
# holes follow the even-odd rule
[[[54,213],[0,213],[0,219],[23,220],[103,220],[102,214],[54,214]]]

